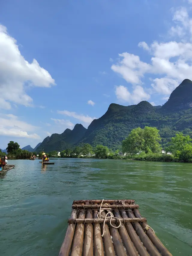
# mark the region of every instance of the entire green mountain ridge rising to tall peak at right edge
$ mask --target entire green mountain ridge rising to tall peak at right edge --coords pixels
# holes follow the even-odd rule
[[[176,132],[192,135],[192,82],[185,79],[170,95],[163,106],[152,106],[147,101],[137,105],[122,106],[110,104],[107,112],[98,119],[94,119],[85,129],[84,133],[66,129],[62,134],[52,134],[48,142],[42,142],[38,149],[47,152],[52,150],[62,151],[73,146],[89,143],[92,146],[102,144],[116,150],[121,149],[122,140],[129,132],[137,127],[157,127],[162,137],[161,144],[166,146]],[[68,133],[68,135],[64,135]],[[73,138],[73,136],[76,138]],[[48,137],[47,137],[48,138]],[[47,139],[46,138],[46,139]],[[50,141],[51,140],[51,141]],[[37,150],[38,150],[37,149]]]

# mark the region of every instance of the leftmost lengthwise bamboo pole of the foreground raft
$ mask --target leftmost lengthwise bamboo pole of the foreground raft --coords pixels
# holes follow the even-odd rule
[[[75,219],[77,218],[77,209],[73,209],[71,212],[71,218]],[[71,249],[71,244],[73,241],[73,235],[75,232],[75,224],[69,224],[67,227],[67,231],[65,234],[65,239],[61,245],[61,249],[59,251],[59,256],[68,256],[70,249]]]

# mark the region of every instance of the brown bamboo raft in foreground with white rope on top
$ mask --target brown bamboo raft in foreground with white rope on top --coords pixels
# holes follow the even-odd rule
[[[172,256],[138,208],[134,200],[73,201],[59,256]]]

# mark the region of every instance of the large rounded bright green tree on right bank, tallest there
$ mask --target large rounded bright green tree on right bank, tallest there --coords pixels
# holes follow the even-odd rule
[[[146,126],[133,129],[129,136],[122,142],[123,153],[138,153],[140,151],[158,153],[161,151],[161,141],[157,128]]]

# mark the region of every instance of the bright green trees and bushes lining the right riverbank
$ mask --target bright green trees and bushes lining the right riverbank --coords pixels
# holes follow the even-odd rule
[[[171,155],[161,153],[160,141],[161,137],[156,127],[139,127],[133,129],[123,140],[122,151],[134,160],[192,162],[192,139],[189,135],[178,132],[171,138],[165,148],[166,152],[172,153]]]

